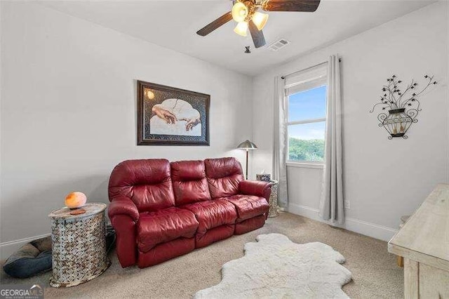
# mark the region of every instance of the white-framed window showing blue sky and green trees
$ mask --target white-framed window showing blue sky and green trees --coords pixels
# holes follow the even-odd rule
[[[324,161],[326,82],[327,64],[286,79],[288,162]]]

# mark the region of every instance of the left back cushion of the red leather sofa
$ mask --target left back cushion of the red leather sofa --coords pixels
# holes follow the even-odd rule
[[[109,201],[121,196],[129,197],[139,212],[174,206],[170,162],[166,159],[121,162],[109,178]]]

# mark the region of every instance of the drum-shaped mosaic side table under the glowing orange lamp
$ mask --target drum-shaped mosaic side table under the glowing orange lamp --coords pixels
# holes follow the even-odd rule
[[[86,204],[86,213],[70,215],[69,208],[51,212],[53,275],[55,288],[77,286],[98,277],[111,262],[106,251],[105,204]]]

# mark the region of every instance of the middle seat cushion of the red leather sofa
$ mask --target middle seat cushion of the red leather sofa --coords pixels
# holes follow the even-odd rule
[[[195,214],[196,220],[199,222],[198,234],[204,234],[220,225],[233,225],[237,219],[236,208],[225,199],[199,201],[180,208],[185,208]]]

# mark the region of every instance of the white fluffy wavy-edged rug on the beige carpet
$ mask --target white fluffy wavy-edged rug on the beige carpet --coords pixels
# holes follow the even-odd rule
[[[283,234],[260,234],[245,256],[222,267],[222,281],[194,298],[348,298],[344,257],[319,243],[295,244]]]

